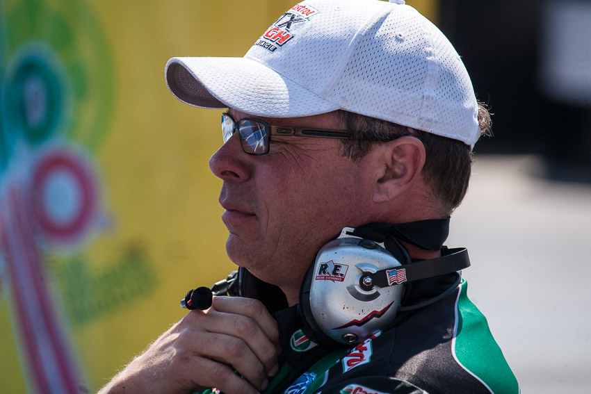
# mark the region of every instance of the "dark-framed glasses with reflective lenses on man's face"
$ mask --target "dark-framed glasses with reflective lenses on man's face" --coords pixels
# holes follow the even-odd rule
[[[295,136],[318,138],[348,138],[345,130],[308,129],[307,127],[270,126],[262,120],[244,118],[234,120],[229,113],[222,113],[224,143],[238,131],[242,149],[248,154],[269,153],[271,136]]]

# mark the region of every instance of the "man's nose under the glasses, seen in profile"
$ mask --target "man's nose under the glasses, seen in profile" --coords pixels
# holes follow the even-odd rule
[[[252,156],[242,149],[240,136],[234,133],[224,145],[209,158],[209,169],[222,181],[245,181],[250,178]]]

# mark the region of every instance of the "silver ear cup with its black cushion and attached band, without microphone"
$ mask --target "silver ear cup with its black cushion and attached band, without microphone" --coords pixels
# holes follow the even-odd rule
[[[458,274],[444,293],[401,307],[408,282],[457,272],[470,262],[467,249],[461,248],[413,262],[403,245],[389,236],[389,230],[382,224],[346,228],[318,252],[302,283],[298,304],[302,331],[308,338],[325,344],[359,343],[387,327],[398,312],[433,304],[460,284]]]

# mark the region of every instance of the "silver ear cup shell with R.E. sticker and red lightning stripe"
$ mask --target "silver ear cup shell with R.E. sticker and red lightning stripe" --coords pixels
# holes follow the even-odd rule
[[[366,274],[398,265],[371,240],[341,236],[327,243],[316,255],[309,292],[311,314],[323,333],[353,344],[394,320],[403,286],[373,286]]]

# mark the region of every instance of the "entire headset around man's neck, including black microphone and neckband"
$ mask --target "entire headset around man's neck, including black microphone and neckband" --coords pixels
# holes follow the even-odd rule
[[[405,284],[469,267],[467,249],[444,248],[446,254],[442,257],[412,261],[399,242],[404,240],[429,250],[442,249],[448,223],[449,218],[343,229],[339,237],[318,251],[302,282],[298,315],[304,334],[316,343],[352,345],[389,326],[399,312],[428,306],[451,294],[460,284],[460,274],[452,286],[436,297],[400,306]],[[209,308],[211,301],[201,301],[202,289],[209,290],[190,290],[181,306]],[[245,268],[214,284],[211,292],[259,299],[271,313],[287,306],[285,295],[277,286],[257,279]]]

